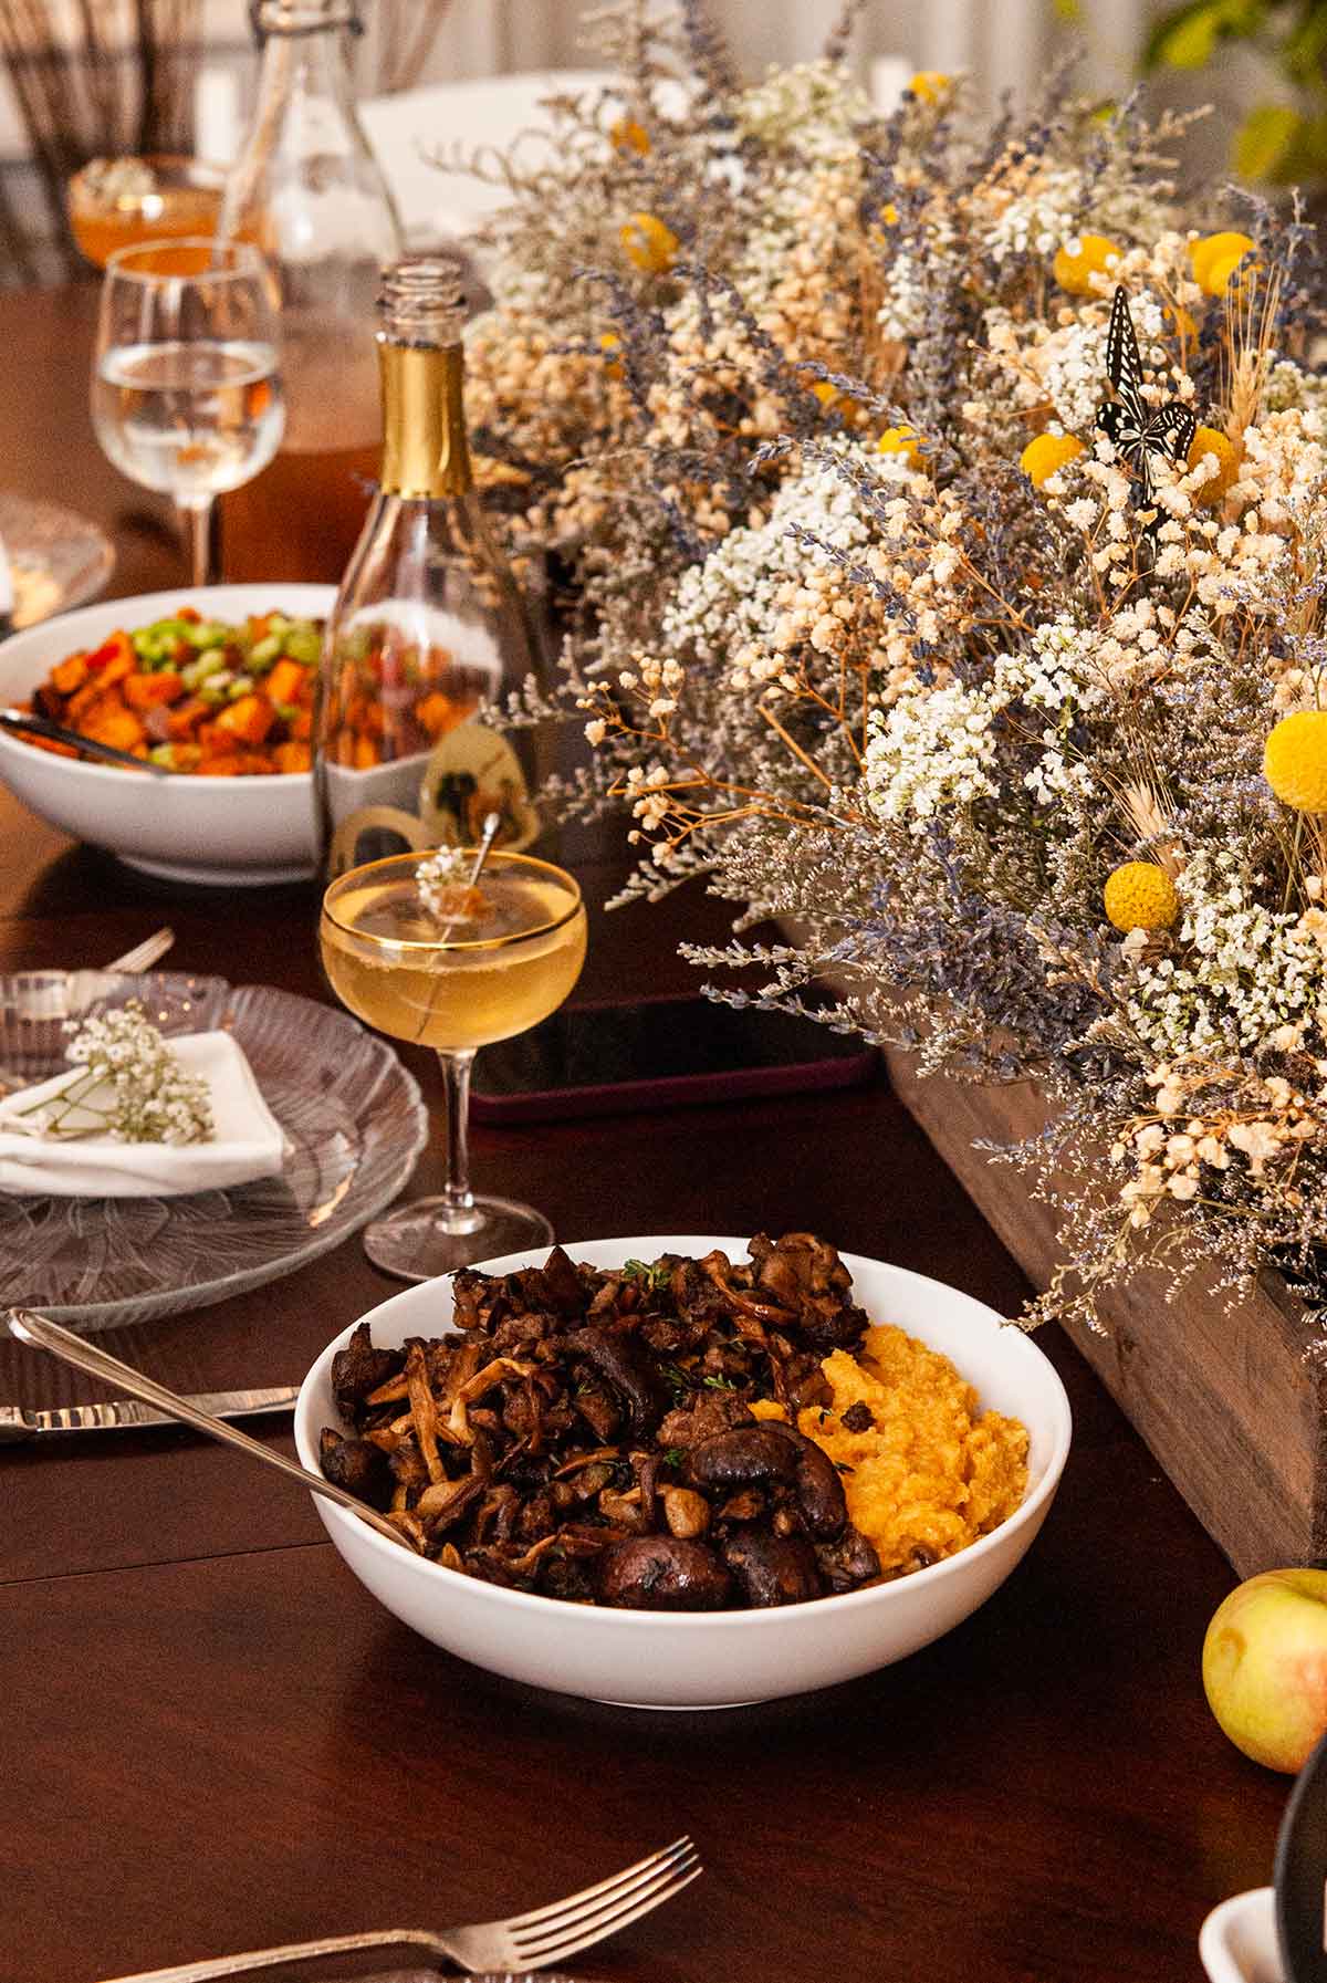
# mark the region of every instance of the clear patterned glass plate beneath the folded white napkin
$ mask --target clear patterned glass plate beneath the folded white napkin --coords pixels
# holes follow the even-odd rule
[[[10,1079],[42,1081],[65,1065],[61,986],[79,976],[0,978]],[[202,1309],[294,1273],[397,1196],[428,1128],[395,1051],[331,1005],[179,972],[121,978],[97,1005],[129,997],[163,1033],[230,1029],[290,1152],[276,1178],[186,1198],[0,1194],[0,1307],[40,1309],[81,1331]]]

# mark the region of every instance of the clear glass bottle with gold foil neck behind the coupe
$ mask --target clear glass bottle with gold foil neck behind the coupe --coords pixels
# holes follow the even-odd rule
[[[327,623],[313,724],[325,880],[403,849],[540,833],[528,754],[488,710],[543,678],[540,623],[484,518],[464,418],[462,282],[397,262],[377,333],[383,470]]]

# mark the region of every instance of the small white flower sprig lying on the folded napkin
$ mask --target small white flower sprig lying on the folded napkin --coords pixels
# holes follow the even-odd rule
[[[65,1059],[79,1069],[40,1108],[24,1110],[44,1136],[109,1136],[111,1142],[210,1142],[206,1081],[186,1075],[161,1029],[129,999],[81,1023]]]

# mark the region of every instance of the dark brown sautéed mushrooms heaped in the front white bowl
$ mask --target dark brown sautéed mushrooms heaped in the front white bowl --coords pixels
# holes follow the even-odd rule
[[[333,1360],[347,1428],[323,1469],[448,1569],[637,1610],[791,1604],[879,1575],[839,1473],[787,1416],[865,1317],[833,1247],[760,1235],[750,1261],[452,1277],[454,1333]]]

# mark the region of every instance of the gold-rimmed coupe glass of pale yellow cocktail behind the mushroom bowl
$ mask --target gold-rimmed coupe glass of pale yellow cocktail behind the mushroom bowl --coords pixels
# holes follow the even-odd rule
[[[563,869],[492,853],[476,888],[417,884],[426,853],[369,861],[331,882],[319,942],[331,990],[379,1033],[434,1047],[446,1083],[446,1184],[365,1231],[387,1273],[424,1281],[474,1259],[547,1245],[553,1227],[532,1206],[470,1190],[466,1116],[478,1047],[526,1033],[555,1011],[581,976],[585,908]],[[460,849],[468,875],[476,849]]]

